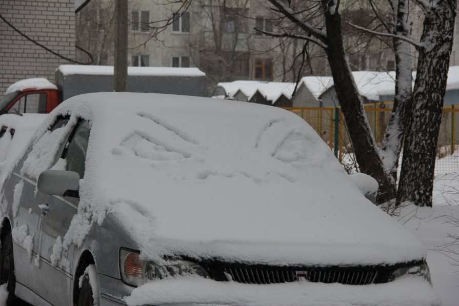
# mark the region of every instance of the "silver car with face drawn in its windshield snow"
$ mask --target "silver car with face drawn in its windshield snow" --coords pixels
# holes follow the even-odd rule
[[[75,96],[16,163],[1,206],[10,300],[440,304],[422,243],[282,109]]]

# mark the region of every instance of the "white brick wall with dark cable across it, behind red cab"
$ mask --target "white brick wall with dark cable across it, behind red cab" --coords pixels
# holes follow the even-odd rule
[[[74,0],[0,0],[0,14],[14,27],[68,58],[75,58]],[[29,77],[54,81],[66,60],[33,44],[0,19],[0,97],[9,85]]]

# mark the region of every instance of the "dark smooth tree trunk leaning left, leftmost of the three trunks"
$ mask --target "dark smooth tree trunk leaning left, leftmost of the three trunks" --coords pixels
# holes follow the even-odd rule
[[[325,51],[355,158],[360,170],[375,178],[379,183],[377,203],[383,203],[395,197],[395,182],[384,171],[383,162],[376,150],[376,143],[361,104],[361,96],[347,63],[343,47],[342,19],[338,12],[337,2],[336,0],[322,0],[322,5],[327,28]]]

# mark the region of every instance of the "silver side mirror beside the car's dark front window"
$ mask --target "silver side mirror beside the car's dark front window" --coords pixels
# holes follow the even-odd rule
[[[79,179],[73,171],[47,170],[38,176],[37,189],[44,194],[78,197]]]

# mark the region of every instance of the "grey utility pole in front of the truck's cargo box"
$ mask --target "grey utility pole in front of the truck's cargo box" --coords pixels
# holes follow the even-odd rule
[[[113,90],[125,92],[128,78],[128,0],[116,0]]]

